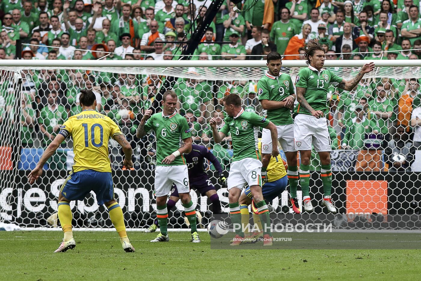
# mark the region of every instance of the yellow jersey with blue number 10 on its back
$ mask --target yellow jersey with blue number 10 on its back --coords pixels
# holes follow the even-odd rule
[[[115,135],[123,135],[111,118],[93,109],[87,109],[69,117],[59,134],[65,138],[71,135],[73,138],[73,172],[89,169],[111,173],[108,140]]]

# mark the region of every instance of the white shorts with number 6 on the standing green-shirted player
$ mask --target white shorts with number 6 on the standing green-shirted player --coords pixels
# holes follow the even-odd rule
[[[187,165],[157,166],[155,168],[155,196],[166,196],[175,184],[179,193],[190,192]]]

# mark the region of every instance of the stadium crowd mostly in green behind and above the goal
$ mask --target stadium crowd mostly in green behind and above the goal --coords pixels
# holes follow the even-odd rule
[[[202,24],[210,3],[2,0],[0,59],[15,58],[19,42],[29,44],[22,46],[22,59],[179,59],[187,47],[182,42]],[[420,59],[419,3],[246,0],[235,5],[226,0],[192,59],[265,59],[271,51],[287,55],[284,59],[304,59],[300,54],[312,38],[319,38],[326,59]],[[221,41],[227,43],[213,43]],[[86,88],[95,92],[98,111],[122,127],[137,153],[135,168],[154,162],[153,136],[139,140],[136,128],[144,110],[161,110],[165,76],[63,69],[21,74],[23,147],[45,147],[67,117],[80,111],[78,95]],[[8,75],[3,71],[0,85],[0,122],[6,126],[15,110],[15,90],[6,83]],[[227,168],[230,138],[222,145],[211,143],[207,120],[214,116],[222,125],[222,98],[229,93],[242,97],[245,110],[264,114],[256,95],[257,81],[179,78],[173,88],[194,141],[212,149]],[[331,86],[326,116],[332,148],[360,151],[357,170],[410,170],[421,147],[419,88],[419,81],[410,77],[362,79],[350,92]],[[63,146],[71,147],[71,143]],[[395,157],[400,154],[403,161]],[[314,159],[313,169],[317,169]]]

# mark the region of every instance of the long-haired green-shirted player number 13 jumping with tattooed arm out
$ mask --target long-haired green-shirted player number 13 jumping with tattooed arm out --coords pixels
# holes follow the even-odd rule
[[[299,169],[301,190],[303,192],[304,210],[313,211],[310,200],[310,156],[312,145],[320,157],[322,164],[321,178],[323,182],[324,198],[322,204],[331,213],[336,213],[335,205],[331,200],[332,171],[330,168],[331,143],[325,112],[328,111],[326,103],[328,87],[330,84],[340,89],[351,91],[360,82],[365,73],[374,69],[374,63],[366,63],[360,72],[349,81],[346,81],[330,70],[324,69],[325,50],[316,40],[309,40],[304,53],[308,68],[302,68],[296,77],[298,105],[294,110],[294,138],[295,148],[300,151],[301,165]]]

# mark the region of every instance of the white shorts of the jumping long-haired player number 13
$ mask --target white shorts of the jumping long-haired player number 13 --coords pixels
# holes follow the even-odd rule
[[[332,151],[328,122],[307,114],[297,114],[294,119],[294,139],[297,150],[312,150],[316,152]]]

